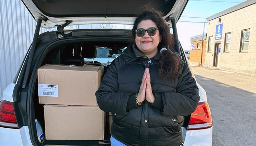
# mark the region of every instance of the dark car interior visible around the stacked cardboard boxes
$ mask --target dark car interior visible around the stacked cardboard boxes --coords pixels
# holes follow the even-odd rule
[[[83,66],[94,65],[94,66],[102,66],[104,67],[104,73],[106,73],[111,62],[99,62],[99,61],[85,61],[85,59],[93,59],[97,58],[97,55],[101,57],[108,56],[109,58],[116,58],[115,56],[119,56],[122,53],[122,48],[125,48],[129,45],[129,43],[113,43],[113,42],[81,42],[81,43],[73,43],[69,45],[64,45],[61,47],[57,47],[52,49],[44,58],[41,66],[46,64],[50,65],[69,65],[69,66]],[[97,52],[97,48],[99,52]],[[102,49],[101,49],[102,48]],[[108,52],[101,51],[104,48],[109,50]],[[121,50],[122,49],[122,50]],[[101,54],[101,53],[107,53]],[[112,57],[113,56],[113,57]],[[38,81],[36,81],[38,84]],[[45,120],[44,120],[44,104],[39,104],[38,102],[38,86],[35,86],[34,89],[34,111],[35,118],[39,121],[43,128],[43,132],[45,133]],[[32,105],[33,107],[33,105]],[[110,143],[110,129],[109,129],[109,113],[106,113],[106,127],[105,127],[105,140],[101,142],[102,144]],[[86,141],[86,142],[85,142]],[[84,144],[92,144],[99,145],[98,140],[45,140],[44,144],[71,144],[71,145],[84,145]]]

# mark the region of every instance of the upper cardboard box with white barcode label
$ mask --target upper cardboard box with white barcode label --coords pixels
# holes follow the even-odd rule
[[[97,106],[104,67],[44,65],[37,72],[40,104]]]

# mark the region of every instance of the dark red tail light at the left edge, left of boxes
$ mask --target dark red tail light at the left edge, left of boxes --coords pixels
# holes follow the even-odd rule
[[[19,129],[12,102],[5,100],[0,102],[0,127]]]

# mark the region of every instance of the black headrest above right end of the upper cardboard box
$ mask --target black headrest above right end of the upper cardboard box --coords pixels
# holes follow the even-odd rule
[[[84,58],[96,58],[97,49],[93,44],[85,43],[82,45],[81,55]]]

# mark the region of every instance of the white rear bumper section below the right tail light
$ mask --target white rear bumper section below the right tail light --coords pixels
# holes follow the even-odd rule
[[[185,136],[185,146],[212,146],[212,127],[202,130],[188,130]]]

